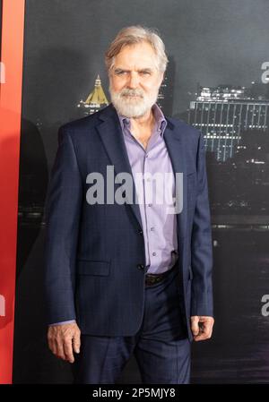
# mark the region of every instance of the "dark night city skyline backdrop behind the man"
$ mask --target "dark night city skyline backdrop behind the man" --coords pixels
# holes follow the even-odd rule
[[[108,104],[104,52],[118,30],[141,24],[159,30],[169,56],[160,106],[201,130],[207,151],[215,329],[210,341],[193,347],[192,382],[269,383],[269,2],[26,0],[20,12],[18,219],[8,221],[13,244],[17,233],[17,253],[9,253],[17,262],[8,260],[11,272],[16,265],[9,285],[16,285],[13,382],[72,381],[69,364],[48,351],[42,296],[43,209],[57,129]],[[22,37],[17,26],[9,40]],[[7,84],[1,81],[1,91]],[[3,135],[1,127],[1,141]],[[1,211],[9,219],[3,198],[2,187]],[[4,263],[0,269],[4,275]],[[3,335],[4,311],[1,322]],[[119,382],[140,382],[134,358]]]

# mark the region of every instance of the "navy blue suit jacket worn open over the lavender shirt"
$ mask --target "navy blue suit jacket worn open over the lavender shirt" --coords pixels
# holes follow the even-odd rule
[[[213,315],[212,237],[200,132],[168,118],[164,132],[174,173],[183,173],[178,220],[181,306]],[[107,166],[132,175],[115,108],[63,125],[46,205],[45,290],[48,323],[76,319],[82,334],[132,336],[143,320],[145,253],[139,205],[86,201],[86,177]],[[115,184],[115,188],[117,188]],[[106,188],[106,185],[105,185]],[[135,189],[135,188],[134,188]],[[178,300],[179,303],[179,300]]]

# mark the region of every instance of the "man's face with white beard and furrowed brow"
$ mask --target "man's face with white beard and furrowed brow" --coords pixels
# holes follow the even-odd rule
[[[123,47],[109,73],[111,101],[120,115],[139,117],[156,102],[163,73],[152,46],[142,42]]]

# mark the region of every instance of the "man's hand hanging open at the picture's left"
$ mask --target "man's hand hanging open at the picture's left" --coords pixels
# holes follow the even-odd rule
[[[81,331],[75,322],[48,327],[48,346],[54,355],[74,363],[75,353],[80,353]]]

